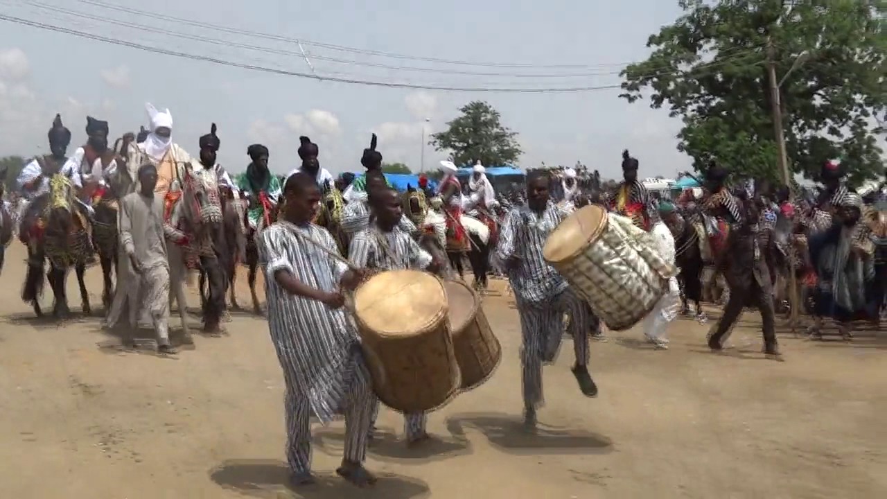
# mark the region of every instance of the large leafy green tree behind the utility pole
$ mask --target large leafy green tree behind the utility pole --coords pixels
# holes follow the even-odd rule
[[[622,97],[682,118],[679,151],[781,180],[766,61],[781,83],[789,167],[815,178],[841,159],[852,182],[883,169],[873,116],[887,109],[887,1],[679,0],[686,12],[626,67]],[[809,57],[798,59],[807,51]],[[804,60],[806,59],[806,60]]]

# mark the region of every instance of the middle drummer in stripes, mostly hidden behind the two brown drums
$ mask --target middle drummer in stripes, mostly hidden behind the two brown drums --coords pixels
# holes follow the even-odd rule
[[[428,270],[437,272],[442,262],[436,261],[419,243],[399,226],[403,218],[402,203],[397,191],[387,186],[377,186],[370,192],[373,221],[351,240],[349,259],[354,265],[370,272],[388,270]],[[373,411],[373,424],[379,406]],[[407,414],[404,432],[408,444],[428,440],[425,431],[425,413]]]

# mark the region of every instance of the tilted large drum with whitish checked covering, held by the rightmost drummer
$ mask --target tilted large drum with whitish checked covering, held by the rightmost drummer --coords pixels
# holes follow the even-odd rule
[[[575,211],[548,235],[543,257],[591,305],[609,329],[630,329],[646,316],[678,269],[652,236],[597,205]]]

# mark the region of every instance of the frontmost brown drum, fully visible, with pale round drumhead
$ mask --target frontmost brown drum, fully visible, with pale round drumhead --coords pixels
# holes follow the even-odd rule
[[[354,294],[355,319],[373,388],[401,412],[438,408],[459,391],[459,365],[443,283],[430,273],[374,275]]]

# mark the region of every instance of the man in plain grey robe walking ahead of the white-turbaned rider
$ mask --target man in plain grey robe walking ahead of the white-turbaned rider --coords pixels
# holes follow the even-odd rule
[[[117,289],[106,326],[119,325],[126,314],[124,344],[133,345],[137,318],[150,316],[161,353],[175,353],[169,343],[169,259],[166,239],[180,234],[163,220],[163,197],[154,193],[157,168],[146,162],[138,169],[139,191],[123,196],[118,231]]]

